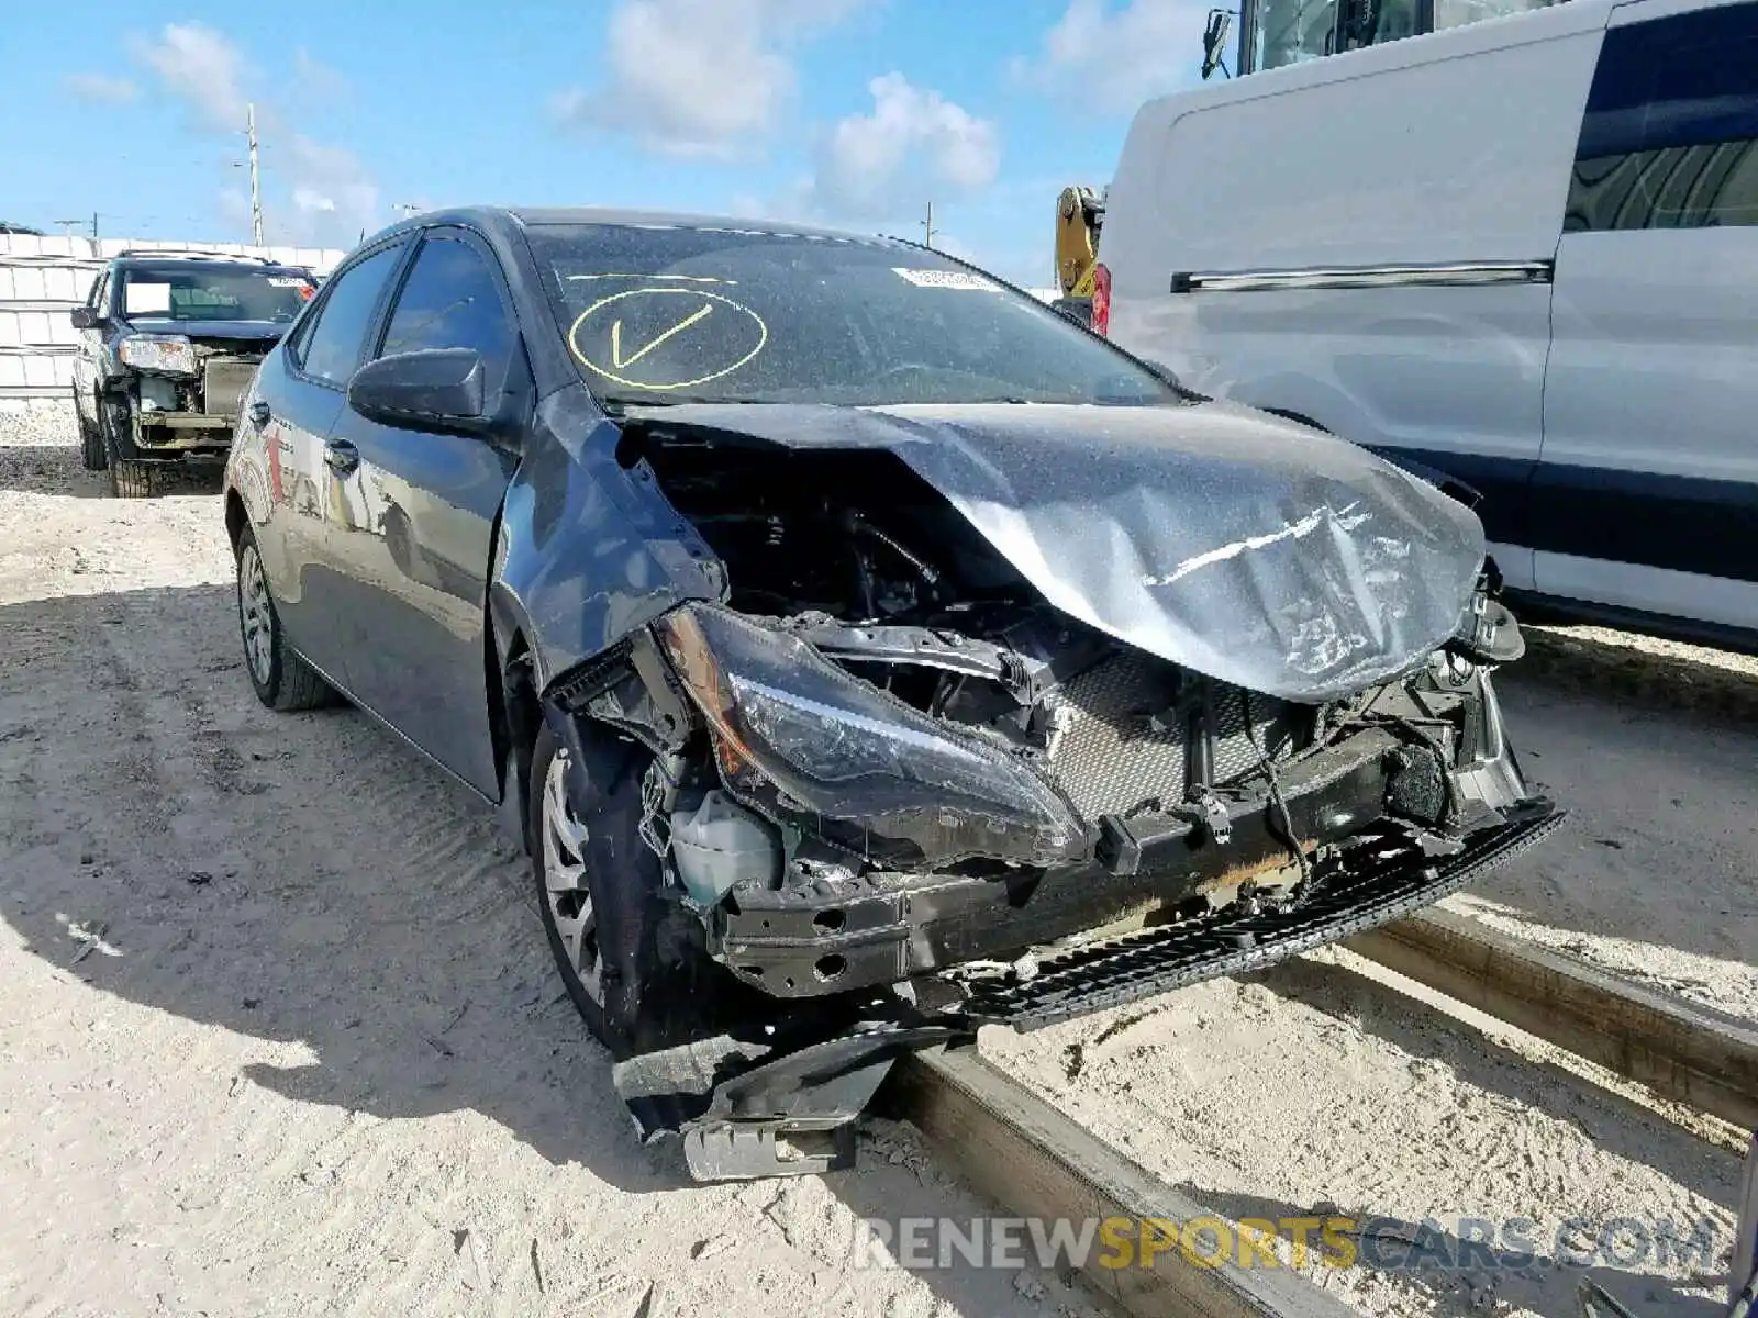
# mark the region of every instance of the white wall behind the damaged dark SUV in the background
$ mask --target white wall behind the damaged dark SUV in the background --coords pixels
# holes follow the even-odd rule
[[[267,257],[318,274],[329,274],[348,255],[334,248],[0,234],[0,401],[72,397],[79,330],[67,313],[86,301],[104,262],[130,248]]]

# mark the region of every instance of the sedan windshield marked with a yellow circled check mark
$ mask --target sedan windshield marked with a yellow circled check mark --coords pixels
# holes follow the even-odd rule
[[[531,244],[607,404],[1180,397],[1042,302],[907,243],[538,225]]]

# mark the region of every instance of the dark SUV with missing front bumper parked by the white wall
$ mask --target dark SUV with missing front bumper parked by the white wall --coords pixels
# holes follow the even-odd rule
[[[316,290],[311,271],[260,257],[123,251],[84,306],[74,409],[88,471],[125,499],[153,466],[223,457],[257,362]]]

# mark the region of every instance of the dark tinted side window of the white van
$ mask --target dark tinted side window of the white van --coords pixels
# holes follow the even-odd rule
[[[1563,232],[1758,225],[1758,5],[1605,33]]]

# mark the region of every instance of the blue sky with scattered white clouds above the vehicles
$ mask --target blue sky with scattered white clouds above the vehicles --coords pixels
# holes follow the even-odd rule
[[[352,246],[401,206],[603,204],[919,235],[1051,279],[1065,183],[1195,79],[1195,0],[30,4],[0,218]],[[364,16],[362,16],[364,14]],[[151,16],[151,18],[149,18]]]

